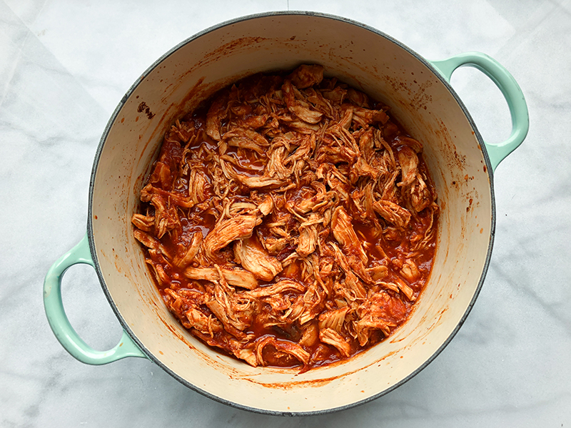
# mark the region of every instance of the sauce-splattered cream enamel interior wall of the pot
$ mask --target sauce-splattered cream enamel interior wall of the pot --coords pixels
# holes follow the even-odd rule
[[[304,374],[249,367],[191,337],[166,310],[130,223],[163,133],[176,118],[237,78],[300,63],[320,63],[328,76],[392,107],[424,144],[442,208],[433,272],[408,322],[352,360]],[[473,127],[430,68],[370,29],[325,16],[283,14],[202,34],[141,79],[104,136],[92,183],[91,221],[103,287],[149,355],[217,399],[261,412],[296,413],[375,397],[438,352],[477,293],[493,219],[490,175]]]

